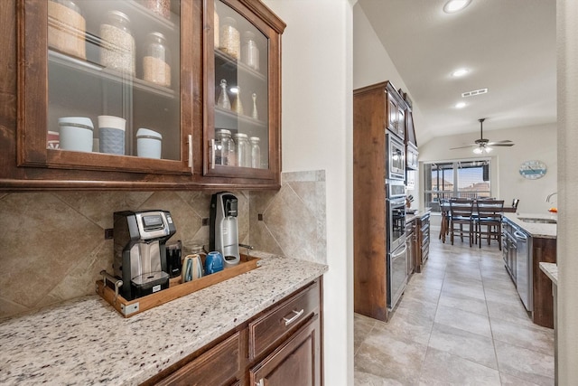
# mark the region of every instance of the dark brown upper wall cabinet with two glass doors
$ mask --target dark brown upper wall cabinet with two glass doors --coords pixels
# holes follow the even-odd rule
[[[0,190],[279,187],[280,56],[285,24],[266,5],[251,0],[179,0],[171,2],[167,19],[135,0],[107,6],[83,0],[75,3],[86,22],[79,33],[86,48],[81,54],[56,48],[51,41],[55,25],[62,25],[52,14],[56,3],[6,0],[0,8],[5,36],[0,60]],[[107,11],[113,9],[130,22],[129,33],[120,37],[130,34],[134,39],[134,71],[113,69],[103,59],[110,43],[101,28],[108,23]],[[223,52],[215,39],[216,12],[223,19],[234,17],[242,29],[239,33],[259,33],[258,70],[249,68],[242,56]],[[172,59],[171,66],[167,60],[170,84],[159,85],[144,76],[145,42],[150,33],[166,38]],[[113,37],[119,38],[118,33]],[[219,113],[215,84],[233,74],[230,85],[240,87],[242,81],[245,87],[247,112]],[[256,93],[260,116],[250,114],[252,93]],[[102,151],[101,115],[126,120],[120,153]],[[93,151],[55,148],[49,137],[59,131],[62,117],[89,118],[92,136],[100,139],[100,146]],[[227,128],[260,137],[264,162],[243,167],[215,165],[215,132],[222,128],[222,117],[233,125]],[[162,136],[161,158],[138,156],[136,133],[143,127]],[[59,145],[63,145],[62,137]]]

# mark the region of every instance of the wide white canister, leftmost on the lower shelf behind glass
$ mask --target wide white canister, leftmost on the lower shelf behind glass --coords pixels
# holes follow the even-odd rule
[[[92,152],[92,120],[86,117],[58,118],[62,150]]]

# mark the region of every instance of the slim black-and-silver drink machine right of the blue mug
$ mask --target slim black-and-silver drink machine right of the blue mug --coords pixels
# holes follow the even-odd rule
[[[232,193],[215,193],[210,198],[210,250],[218,250],[225,268],[238,265],[237,197]]]

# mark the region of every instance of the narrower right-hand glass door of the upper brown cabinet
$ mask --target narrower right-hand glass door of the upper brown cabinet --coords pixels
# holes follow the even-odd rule
[[[278,114],[271,106],[278,97],[278,47],[270,28],[251,16],[243,2],[213,0],[207,21],[213,25],[207,55],[209,141],[205,174],[269,178],[278,170]],[[212,56],[212,58],[211,58]]]

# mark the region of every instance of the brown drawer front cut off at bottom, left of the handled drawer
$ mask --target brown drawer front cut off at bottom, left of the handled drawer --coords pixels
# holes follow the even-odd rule
[[[226,385],[237,379],[241,369],[240,334],[234,334],[182,366],[157,385]]]

